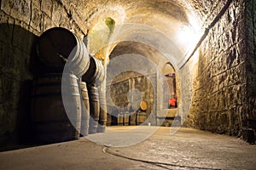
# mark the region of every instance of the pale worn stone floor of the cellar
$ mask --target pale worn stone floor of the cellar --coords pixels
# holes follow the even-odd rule
[[[0,169],[253,170],[256,145],[191,128],[108,127],[74,141],[0,152]]]

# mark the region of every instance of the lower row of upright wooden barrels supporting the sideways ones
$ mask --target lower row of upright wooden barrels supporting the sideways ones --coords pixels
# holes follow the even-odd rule
[[[31,112],[38,143],[61,142],[99,133],[106,123],[101,126],[98,123],[107,121],[100,117],[97,88],[86,86],[72,74],[52,73],[35,78]]]

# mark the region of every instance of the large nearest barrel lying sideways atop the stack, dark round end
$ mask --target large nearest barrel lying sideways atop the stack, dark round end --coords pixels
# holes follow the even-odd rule
[[[68,69],[80,77],[90,65],[84,42],[62,27],[44,31],[38,38],[37,52],[44,65],[56,72],[62,72],[67,63]]]

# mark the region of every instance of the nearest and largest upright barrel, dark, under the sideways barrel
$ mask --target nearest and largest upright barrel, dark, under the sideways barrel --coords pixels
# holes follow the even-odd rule
[[[64,88],[78,92],[78,79],[70,75]],[[55,143],[79,138],[81,116],[80,96],[70,95],[67,105],[73,108],[68,116],[61,96],[62,74],[47,74],[33,80],[32,86],[32,127],[38,143]],[[70,85],[73,84],[73,85]],[[71,120],[70,117],[73,117]]]

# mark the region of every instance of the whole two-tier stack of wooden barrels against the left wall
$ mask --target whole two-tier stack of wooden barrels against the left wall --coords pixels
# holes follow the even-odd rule
[[[96,88],[105,77],[102,62],[88,54],[83,41],[61,27],[38,38],[37,54],[45,69],[32,85],[35,140],[54,143],[104,132],[107,113],[101,111],[100,99],[105,95]]]

